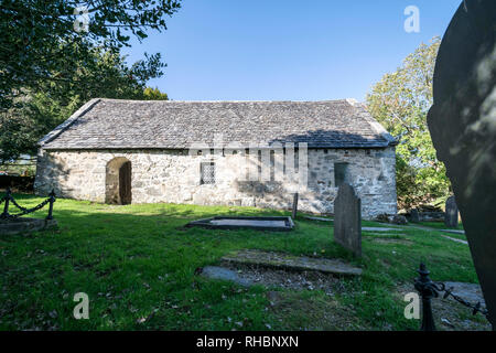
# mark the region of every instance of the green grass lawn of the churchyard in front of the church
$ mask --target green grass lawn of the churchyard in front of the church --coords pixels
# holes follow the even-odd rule
[[[14,197],[24,206],[43,200]],[[0,329],[417,330],[419,321],[403,317],[402,297],[414,291],[420,261],[433,280],[477,282],[468,247],[436,231],[364,232],[364,256],[354,259],[333,243],[331,224],[303,217],[290,233],[183,228],[191,220],[218,214],[289,215],[250,207],[57,200],[57,231],[0,236]],[[44,217],[46,210],[35,215]],[[379,243],[377,237],[405,242]],[[242,288],[195,275],[196,268],[244,248],[339,257],[364,272],[342,279],[332,297],[320,290]],[[73,296],[80,291],[89,296],[89,320],[73,318]],[[273,292],[279,295],[276,307],[269,300]]]

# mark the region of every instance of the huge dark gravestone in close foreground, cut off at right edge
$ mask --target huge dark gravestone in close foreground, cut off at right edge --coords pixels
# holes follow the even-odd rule
[[[496,329],[496,1],[461,3],[443,36],[428,125]]]

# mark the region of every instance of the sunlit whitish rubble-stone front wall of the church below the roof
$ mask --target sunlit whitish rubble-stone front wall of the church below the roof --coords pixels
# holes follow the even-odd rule
[[[292,193],[300,193],[299,210],[333,213],[337,194],[335,163],[347,163],[346,182],[362,199],[364,218],[396,213],[395,148],[308,151],[308,184],[294,178],[276,181],[274,157],[260,158],[245,151],[223,156],[190,156],[187,150],[46,151],[40,150],[35,191],[52,189],[63,197],[106,201],[107,164],[116,158],[131,161],[132,203],[186,203],[291,208]],[[214,160],[215,184],[201,184],[201,162]],[[248,160],[249,162],[245,162]],[[270,165],[269,169],[266,167]],[[296,152],[298,165],[298,152]],[[248,170],[259,170],[271,181],[247,181]],[[298,167],[296,167],[298,170]],[[298,174],[296,178],[298,180]],[[108,193],[108,191],[107,191]]]

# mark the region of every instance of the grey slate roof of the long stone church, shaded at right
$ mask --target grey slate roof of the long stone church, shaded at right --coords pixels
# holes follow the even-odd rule
[[[192,143],[384,148],[396,140],[352,99],[175,101],[91,99],[46,135],[44,149],[185,149]]]

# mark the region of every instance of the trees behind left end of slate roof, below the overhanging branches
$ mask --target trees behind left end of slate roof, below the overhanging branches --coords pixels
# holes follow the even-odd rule
[[[36,90],[23,89],[19,101],[0,117],[0,161],[34,153],[42,136],[91,98],[166,99],[158,88],[145,88],[148,79],[162,74],[160,56],[128,67],[121,55],[101,49],[91,53],[77,63],[71,79],[42,82]]]

